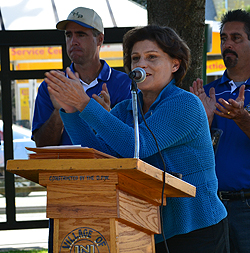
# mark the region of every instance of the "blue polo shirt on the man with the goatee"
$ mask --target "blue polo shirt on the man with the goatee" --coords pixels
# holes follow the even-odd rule
[[[247,108],[250,106],[250,79],[243,84],[246,85],[244,107]],[[208,96],[211,87],[215,88],[217,101],[219,98],[236,100],[239,96],[239,87],[228,79],[227,71],[221,78],[204,86]],[[250,189],[250,139],[232,119],[216,114],[211,127],[223,131],[215,156],[219,191]]]

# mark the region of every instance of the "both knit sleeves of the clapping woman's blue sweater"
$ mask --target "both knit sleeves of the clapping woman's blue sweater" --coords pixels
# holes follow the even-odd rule
[[[197,137],[199,129],[207,119],[205,110],[195,96],[183,96],[181,106],[178,101],[165,101],[159,104],[153,114],[147,117],[149,128],[158,140],[160,150],[178,146]],[[176,102],[177,101],[177,102]],[[125,105],[125,106],[124,106]],[[171,110],[169,110],[171,108]],[[66,130],[73,143],[96,148],[102,152],[120,157],[134,155],[133,117],[128,113],[126,102],[117,105],[111,113],[91,99],[86,108],[78,114],[61,114]],[[183,116],[183,117],[182,117]],[[201,119],[203,117],[203,119]],[[82,122],[79,124],[78,122]],[[208,131],[208,124],[207,124]],[[93,128],[98,135],[94,135]],[[140,157],[146,158],[158,152],[155,140],[142,121],[139,124]],[[116,155],[117,156],[117,155]]]

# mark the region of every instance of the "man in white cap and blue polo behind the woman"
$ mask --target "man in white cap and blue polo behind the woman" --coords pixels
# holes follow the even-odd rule
[[[104,28],[94,10],[78,7],[56,27],[65,31],[67,54],[72,60],[71,66],[66,69],[66,76],[69,71],[77,72],[88,96],[107,110],[131,97],[131,80],[127,74],[112,69],[99,58]],[[38,147],[71,144],[59,109],[60,106],[48,92],[47,83],[43,81],[38,89],[32,124],[32,139]]]

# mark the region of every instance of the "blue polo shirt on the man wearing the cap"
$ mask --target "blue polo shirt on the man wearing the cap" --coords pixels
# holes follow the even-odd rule
[[[130,85],[131,79],[124,72],[117,71],[111,68],[106,61],[101,60],[103,68],[97,77],[97,84],[86,90],[89,97],[93,94],[99,94],[102,90],[103,83],[107,84],[107,88],[111,100],[111,108],[117,103],[131,98]],[[73,63],[70,65],[72,72]],[[50,117],[54,111],[54,106],[50,100],[49,92],[47,89],[47,83],[43,81],[39,88],[35,102],[35,110],[32,123],[32,132],[39,129]],[[33,137],[33,136],[32,136]],[[71,140],[64,130],[61,138],[60,145],[70,145]]]

